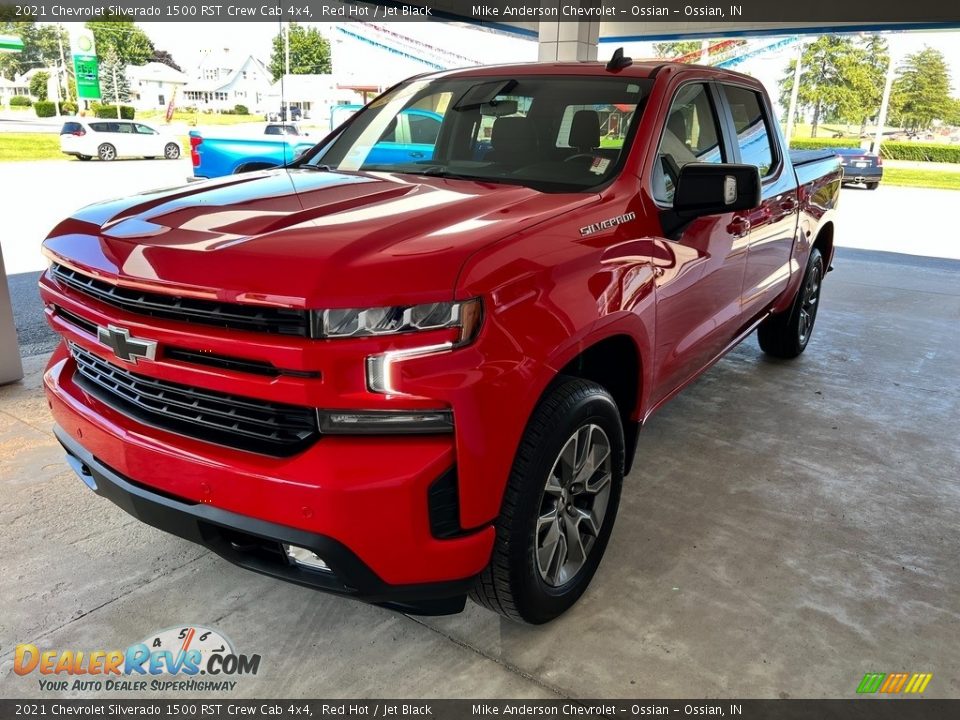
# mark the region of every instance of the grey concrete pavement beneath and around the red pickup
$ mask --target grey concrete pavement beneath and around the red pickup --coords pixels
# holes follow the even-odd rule
[[[800,359],[751,338],[650,421],[593,585],[537,628],[325,596],[132,520],[66,467],[28,360],[0,388],[0,696],[40,694],[17,643],[198,623],[262,655],[240,697],[854,697],[868,671],[960,697],[960,263],[835,267]]]

